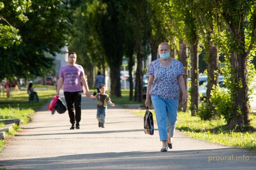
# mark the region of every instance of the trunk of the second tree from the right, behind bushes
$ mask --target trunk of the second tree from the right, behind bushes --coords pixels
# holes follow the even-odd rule
[[[212,111],[214,111],[214,115],[216,115],[214,106],[210,102],[210,98],[211,98],[212,86],[217,85],[219,83],[219,79],[218,79],[219,57],[218,57],[218,49],[213,46],[212,41],[208,42],[208,50],[209,50],[209,60],[208,60],[208,66],[207,66],[208,82],[207,82],[207,90],[206,90],[206,100],[207,100],[207,103],[212,108]]]

